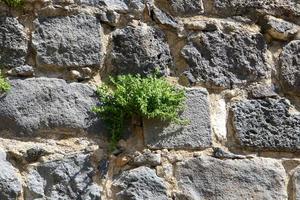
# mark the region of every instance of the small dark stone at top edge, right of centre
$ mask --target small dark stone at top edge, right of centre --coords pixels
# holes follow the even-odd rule
[[[171,0],[169,4],[174,16],[192,16],[204,13],[202,0]]]

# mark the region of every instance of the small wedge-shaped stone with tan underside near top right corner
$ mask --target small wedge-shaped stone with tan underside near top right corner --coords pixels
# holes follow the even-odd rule
[[[284,41],[293,38],[300,30],[299,26],[273,16],[265,17],[264,29],[274,39]]]

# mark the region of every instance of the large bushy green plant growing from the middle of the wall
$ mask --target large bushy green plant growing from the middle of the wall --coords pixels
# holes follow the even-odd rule
[[[186,122],[178,115],[184,108],[185,91],[155,75],[110,77],[110,84],[98,87],[97,94],[100,105],[93,111],[107,125],[111,150],[122,137],[125,119],[136,116],[177,124]]]

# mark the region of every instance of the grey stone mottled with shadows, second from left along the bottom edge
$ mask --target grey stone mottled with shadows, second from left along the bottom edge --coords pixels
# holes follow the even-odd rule
[[[25,199],[100,200],[100,187],[93,182],[91,158],[78,154],[42,163],[28,170]]]

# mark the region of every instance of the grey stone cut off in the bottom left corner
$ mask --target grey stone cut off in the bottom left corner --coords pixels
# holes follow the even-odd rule
[[[6,153],[0,150],[0,199],[15,200],[21,195],[22,183],[14,167],[6,161]]]

